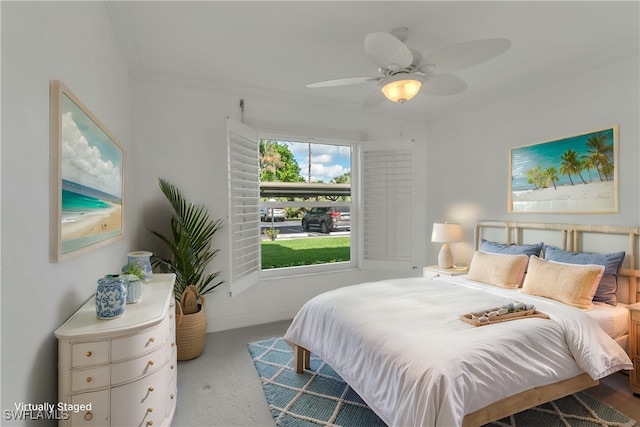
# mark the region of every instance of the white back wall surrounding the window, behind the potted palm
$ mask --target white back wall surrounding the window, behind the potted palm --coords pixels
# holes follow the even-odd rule
[[[167,230],[169,206],[158,189],[158,177],[174,183],[188,200],[203,203],[213,218],[227,223],[227,136],[226,117],[241,119],[239,99],[245,100],[245,119],[261,123],[288,124],[296,128],[366,131],[369,142],[389,145],[408,145],[416,140],[418,155],[424,158],[426,128],[423,124],[404,124],[400,137],[398,121],[366,117],[358,106],[351,111],[337,106],[304,103],[301,99],[265,96],[256,91],[238,91],[182,85],[171,82],[137,80],[135,87],[134,139],[144,165],[135,174],[136,197],[143,203],[141,219],[144,227],[138,230],[141,249],[162,252],[162,245],[147,229]],[[144,154],[143,154],[144,153]],[[144,166],[144,167],[143,167]],[[421,168],[420,174],[424,171]],[[420,176],[420,175],[419,175]],[[417,178],[422,188],[424,178]],[[425,206],[416,201],[419,218]],[[398,220],[403,220],[399,217]],[[229,278],[228,229],[214,237],[214,247],[220,255],[211,266]],[[426,236],[424,223],[416,228],[417,236]],[[424,263],[424,240],[415,243],[415,263]],[[166,254],[165,254],[166,255]],[[407,271],[416,275],[419,271]],[[264,280],[240,295],[229,297],[228,283],[207,295],[208,330],[223,330],[292,318],[300,306],[312,296],[339,286],[365,280],[397,276],[397,272],[350,271],[324,275]]]

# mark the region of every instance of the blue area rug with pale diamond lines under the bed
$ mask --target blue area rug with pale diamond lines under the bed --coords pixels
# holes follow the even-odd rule
[[[293,350],[282,338],[250,343],[269,409],[278,426],[385,426],[342,378],[311,355],[311,369],[293,370]],[[520,412],[489,426],[632,427],[635,421],[584,393]]]

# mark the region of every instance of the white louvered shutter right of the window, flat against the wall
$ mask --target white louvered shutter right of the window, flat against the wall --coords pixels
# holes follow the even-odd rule
[[[412,265],[413,153],[410,148],[367,149],[362,156],[362,265]]]

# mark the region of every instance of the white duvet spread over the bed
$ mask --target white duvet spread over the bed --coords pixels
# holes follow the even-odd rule
[[[458,426],[497,400],[631,361],[586,313],[466,279],[385,280],[321,294],[285,339],[324,359],[391,426]],[[481,327],[461,314],[533,303],[551,319]]]

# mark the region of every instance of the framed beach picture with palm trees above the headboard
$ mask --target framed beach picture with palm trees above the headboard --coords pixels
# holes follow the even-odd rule
[[[509,212],[618,212],[618,127],[511,149]]]

